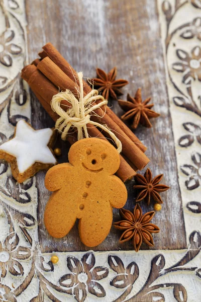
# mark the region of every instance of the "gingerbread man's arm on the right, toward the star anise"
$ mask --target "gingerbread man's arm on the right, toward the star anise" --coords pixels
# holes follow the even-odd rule
[[[109,176],[108,189],[109,200],[113,207],[121,208],[127,201],[127,189],[121,179],[115,175]]]

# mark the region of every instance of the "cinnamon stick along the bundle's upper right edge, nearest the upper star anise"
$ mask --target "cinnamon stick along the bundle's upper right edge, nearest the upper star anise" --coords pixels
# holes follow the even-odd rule
[[[48,55],[49,58],[64,72],[68,77],[75,81],[77,80],[77,72],[72,68],[72,66],[64,59],[64,57],[59,53],[59,51],[51,44],[47,43],[43,46],[45,52],[41,52],[41,58]],[[83,90],[86,94],[91,91],[90,86],[83,81]],[[126,135],[134,142],[136,145],[145,152],[147,147],[139,140],[139,138],[125,125],[125,123],[108,107],[106,106],[106,113],[112,118],[112,120],[118,124],[118,126],[126,133]]]

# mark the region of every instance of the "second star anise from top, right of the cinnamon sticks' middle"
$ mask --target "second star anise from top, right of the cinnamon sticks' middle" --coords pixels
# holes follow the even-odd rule
[[[152,117],[160,116],[159,113],[151,110],[154,104],[149,104],[151,98],[142,101],[141,89],[139,88],[135,94],[135,97],[132,98],[129,94],[127,95],[127,101],[118,100],[119,105],[124,111],[127,111],[122,115],[122,120],[127,121],[133,119],[131,127],[136,129],[137,126],[142,124],[143,126],[150,128],[152,124],[149,119]]]

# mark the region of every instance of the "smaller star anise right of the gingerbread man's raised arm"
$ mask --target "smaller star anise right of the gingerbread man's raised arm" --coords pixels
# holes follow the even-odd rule
[[[140,193],[137,196],[136,202],[145,199],[147,204],[149,205],[151,197],[158,203],[163,203],[159,193],[164,192],[169,189],[168,186],[159,184],[161,179],[163,178],[163,174],[159,174],[152,180],[151,170],[148,168],[143,175],[136,174],[135,181],[137,185],[134,185],[134,189],[139,189]]]

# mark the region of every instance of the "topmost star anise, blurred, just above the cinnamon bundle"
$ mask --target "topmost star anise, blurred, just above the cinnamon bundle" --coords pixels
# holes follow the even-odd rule
[[[128,81],[119,79],[115,80],[117,77],[117,68],[108,72],[108,74],[100,69],[96,68],[97,78],[91,79],[89,83],[93,84],[94,88],[102,92],[102,96],[108,100],[109,96],[117,100],[117,95],[122,95],[120,88],[129,84]]]

